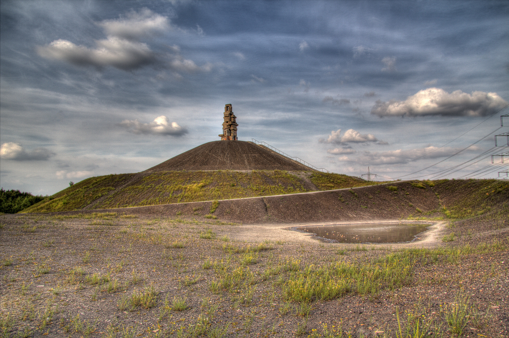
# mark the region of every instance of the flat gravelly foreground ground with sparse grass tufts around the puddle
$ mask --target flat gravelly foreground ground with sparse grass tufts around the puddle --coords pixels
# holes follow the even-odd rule
[[[2,336],[509,337],[506,219],[346,245],[263,217],[146,211],[0,216]]]

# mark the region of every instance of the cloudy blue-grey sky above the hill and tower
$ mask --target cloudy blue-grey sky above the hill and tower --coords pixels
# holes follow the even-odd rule
[[[0,184],[146,170],[219,140],[226,104],[329,172],[497,178],[508,56],[506,1],[4,0]]]

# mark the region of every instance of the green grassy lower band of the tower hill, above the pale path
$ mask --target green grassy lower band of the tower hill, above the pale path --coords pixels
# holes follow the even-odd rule
[[[341,189],[377,184],[319,172],[196,171],[92,177],[23,210],[56,212],[137,207]]]

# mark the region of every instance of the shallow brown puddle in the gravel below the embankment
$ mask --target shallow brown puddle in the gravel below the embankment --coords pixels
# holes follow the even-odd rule
[[[411,242],[431,224],[363,223],[293,227],[292,230],[314,233],[335,243],[400,243]]]

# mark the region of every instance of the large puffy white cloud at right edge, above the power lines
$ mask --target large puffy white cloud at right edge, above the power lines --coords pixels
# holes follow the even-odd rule
[[[371,114],[377,116],[486,116],[507,105],[497,93],[474,91],[472,94],[461,90],[448,93],[440,88],[420,90],[404,101],[377,100]]]

